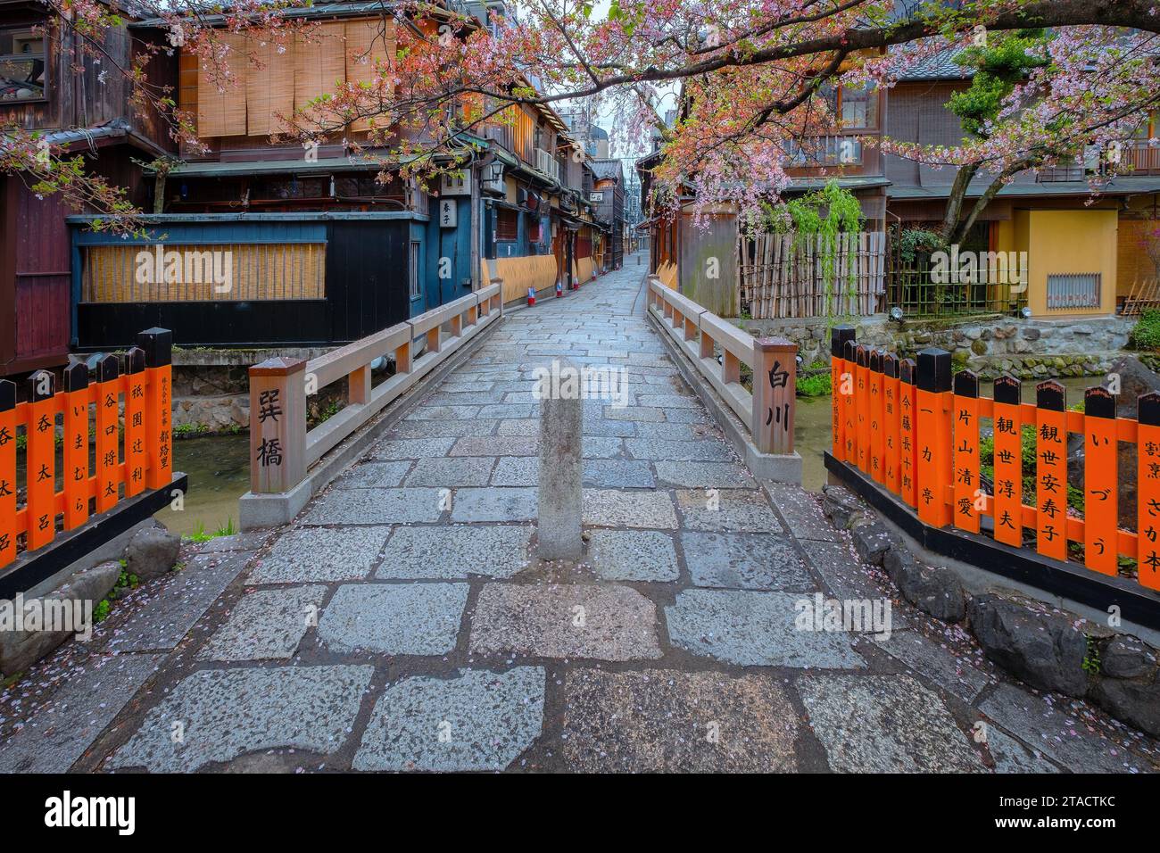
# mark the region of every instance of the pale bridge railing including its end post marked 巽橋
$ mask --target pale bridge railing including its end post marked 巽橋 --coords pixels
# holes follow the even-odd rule
[[[502,315],[503,284],[488,287],[306,362],[268,359],[249,368],[249,489],[284,493],[327,450],[414,385]],[[443,327],[447,328],[443,328]],[[416,341],[426,352],[415,356]],[[370,364],[393,354],[393,376],[371,385]],[[341,379],[348,405],[306,429],[306,398]]]

